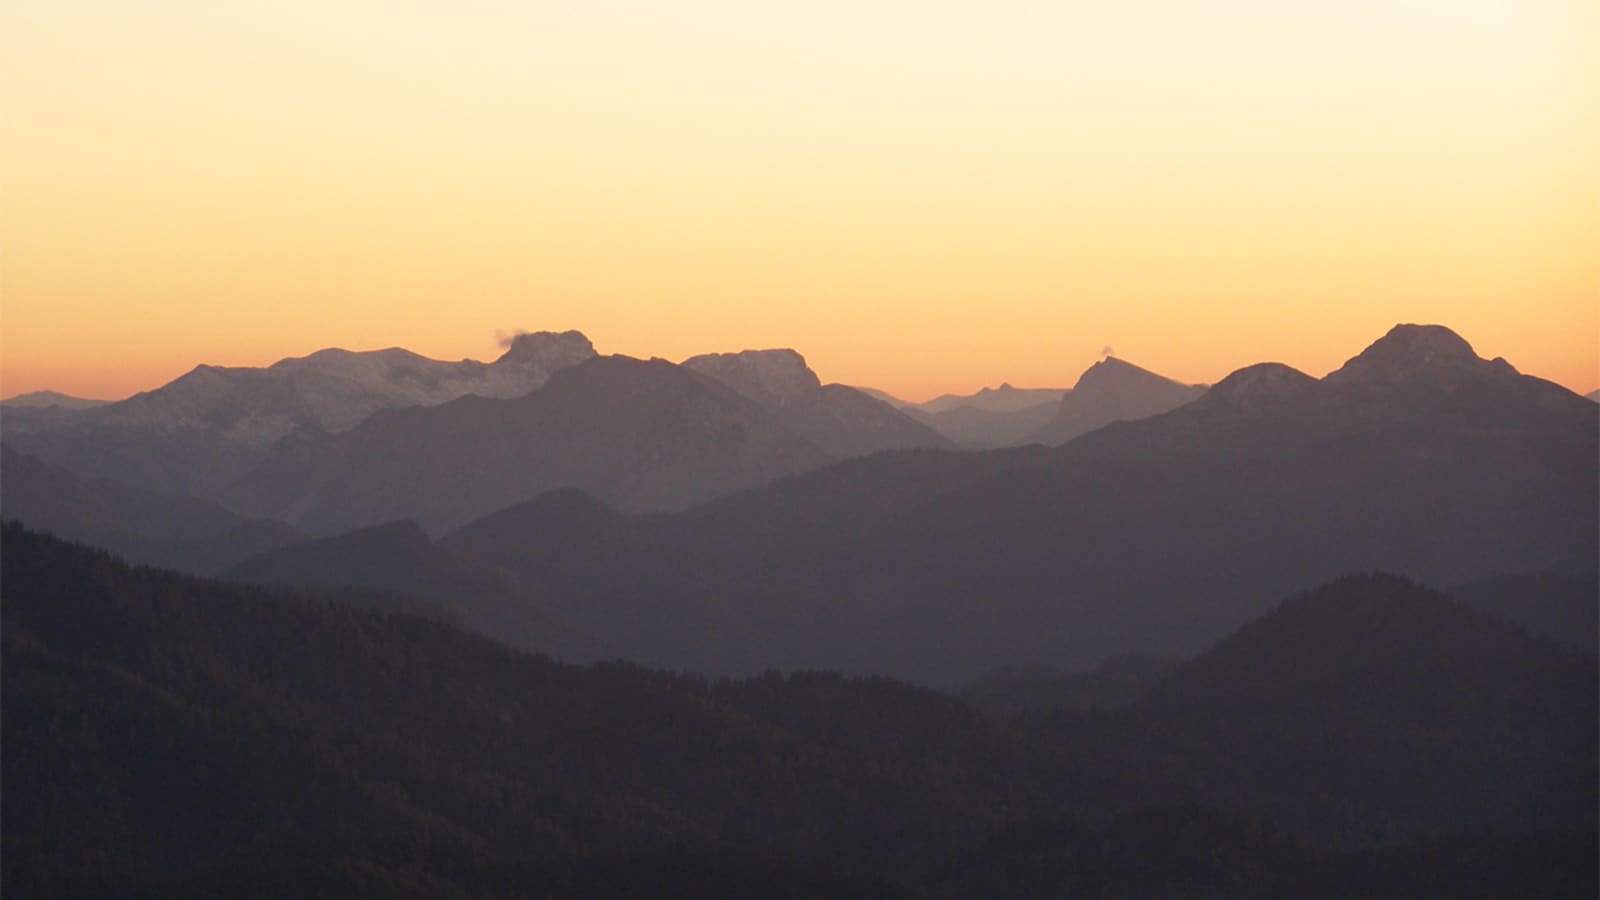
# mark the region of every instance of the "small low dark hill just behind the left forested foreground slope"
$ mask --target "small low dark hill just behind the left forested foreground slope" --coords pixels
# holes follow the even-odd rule
[[[554,620],[538,591],[498,567],[435,544],[416,522],[373,525],[253,556],[221,573],[246,585],[368,588],[408,594],[450,610],[462,628],[562,658],[600,655]]]

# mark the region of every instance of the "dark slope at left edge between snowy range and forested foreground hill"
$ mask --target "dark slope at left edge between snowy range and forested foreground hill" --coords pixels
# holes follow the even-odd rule
[[[160,495],[110,479],[82,479],[5,444],[0,444],[0,512],[134,562],[202,575],[302,540],[290,525],[245,519],[205,500]]]

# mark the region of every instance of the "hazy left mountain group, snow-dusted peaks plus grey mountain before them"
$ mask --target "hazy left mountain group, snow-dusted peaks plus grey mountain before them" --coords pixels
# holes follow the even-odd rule
[[[94,410],[21,412],[6,416],[16,450],[314,533],[403,517],[438,530],[562,487],[674,509],[842,458],[950,447],[822,384],[794,351],[672,365],[598,357],[578,331],[518,335],[488,365],[320,351],[200,367]]]

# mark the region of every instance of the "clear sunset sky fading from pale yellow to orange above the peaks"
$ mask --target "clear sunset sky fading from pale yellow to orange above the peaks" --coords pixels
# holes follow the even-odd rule
[[[1600,386],[1592,0],[6,0],[0,394],[323,346],[794,346],[907,399]]]

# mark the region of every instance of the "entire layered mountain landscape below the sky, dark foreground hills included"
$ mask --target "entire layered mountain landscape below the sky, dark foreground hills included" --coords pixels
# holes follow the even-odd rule
[[[1600,887],[1600,405],[1448,328],[419,359],[5,407],[8,898]]]

